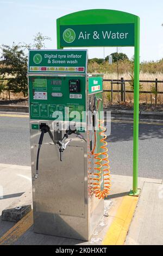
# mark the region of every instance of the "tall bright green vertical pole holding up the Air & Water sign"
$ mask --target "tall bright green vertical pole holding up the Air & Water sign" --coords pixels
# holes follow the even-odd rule
[[[139,59],[140,59],[140,19],[135,22],[135,54],[134,54],[134,140],[133,140],[133,190],[131,196],[138,196],[137,188],[139,164]]]

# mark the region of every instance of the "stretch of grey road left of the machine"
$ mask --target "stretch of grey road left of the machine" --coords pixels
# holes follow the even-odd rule
[[[0,163],[30,165],[27,117],[0,115]]]

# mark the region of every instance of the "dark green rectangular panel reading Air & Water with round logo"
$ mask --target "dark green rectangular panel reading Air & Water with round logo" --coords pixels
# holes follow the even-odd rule
[[[60,46],[134,46],[134,24],[60,26]]]

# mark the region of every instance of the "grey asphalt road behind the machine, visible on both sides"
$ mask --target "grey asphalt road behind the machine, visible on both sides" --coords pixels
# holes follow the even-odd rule
[[[0,114],[0,163],[30,166],[29,119]],[[163,178],[163,123],[140,123],[139,176]],[[108,137],[112,174],[132,175],[133,123],[114,120]]]

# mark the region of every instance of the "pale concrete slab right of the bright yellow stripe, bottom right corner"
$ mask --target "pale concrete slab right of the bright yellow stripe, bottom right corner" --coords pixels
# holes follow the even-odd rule
[[[163,245],[163,184],[145,182],[125,245]]]

